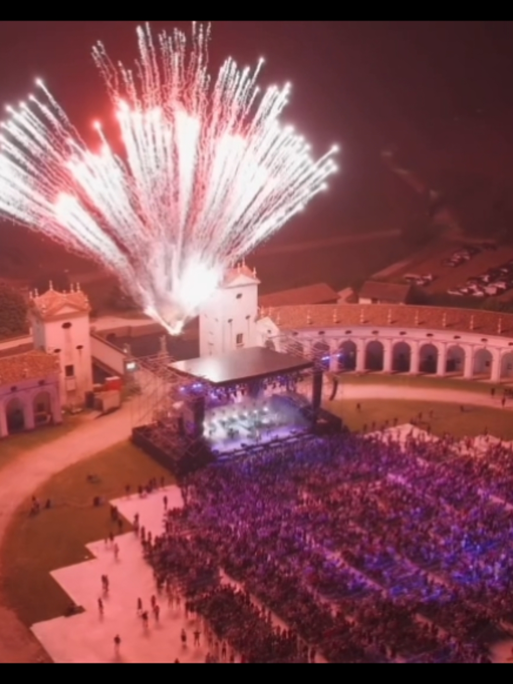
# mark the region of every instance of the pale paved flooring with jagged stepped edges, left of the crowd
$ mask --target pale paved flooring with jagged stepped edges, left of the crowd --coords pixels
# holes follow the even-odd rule
[[[160,490],[140,499],[131,497],[114,501],[120,513],[129,521],[140,514],[144,525],[154,536],[163,527],[163,497],[169,499],[170,508],[183,505],[179,488]],[[181,610],[170,609],[165,597],[159,598],[161,618],[159,624],[150,619],[150,627],[144,630],[137,617],[137,599],[142,599],[144,609],[150,609],[150,599],[155,594],[153,571],[142,557],[141,545],[135,534],[116,539],[120,548],[118,562],[114,550],[105,542],[90,544],[94,553],[92,560],[52,573],[54,579],[77,605],[85,612],[72,618],[58,618],[34,625],[32,631],[40,640],[55,663],[181,663],[205,662],[207,649],[194,648],[195,622],[185,620]],[[98,599],[103,596],[101,577],[108,575],[109,596],[104,599],[103,618],[98,611]],[[181,630],[188,635],[188,646],[183,649]],[[202,631],[202,630],[201,630]],[[120,655],[114,653],[114,637],[122,641]]]

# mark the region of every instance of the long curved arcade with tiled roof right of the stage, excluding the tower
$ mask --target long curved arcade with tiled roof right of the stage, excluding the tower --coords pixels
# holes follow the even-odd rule
[[[315,354],[332,372],[513,382],[513,315],[457,308],[282,306],[261,311],[261,342]],[[329,352],[328,352],[329,350]]]

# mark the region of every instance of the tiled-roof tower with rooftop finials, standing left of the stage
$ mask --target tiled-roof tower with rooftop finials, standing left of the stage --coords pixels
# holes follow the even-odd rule
[[[63,406],[82,406],[93,386],[90,341],[91,307],[80,286],[69,292],[50,289],[31,294],[29,322],[34,349],[55,354],[60,363]]]

